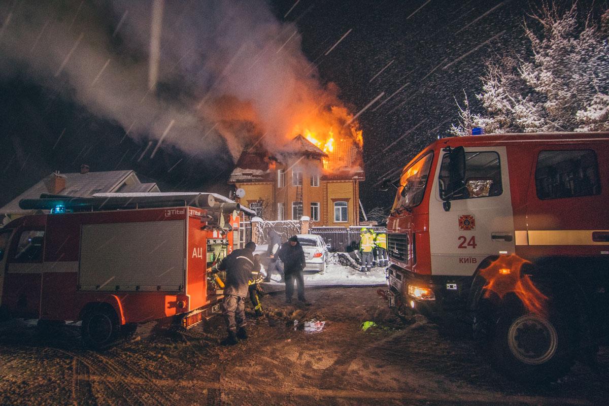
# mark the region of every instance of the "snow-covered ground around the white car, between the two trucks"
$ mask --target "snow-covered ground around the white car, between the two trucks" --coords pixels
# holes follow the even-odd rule
[[[264,258],[267,250],[267,245],[258,245],[256,247],[256,254],[260,254]],[[351,267],[345,267],[340,265],[336,255],[330,254],[330,262],[326,267],[326,271],[320,273],[305,273],[305,286],[337,286],[337,285],[385,285],[387,279],[385,279],[385,268],[375,267],[370,272],[360,272]],[[264,260],[263,260],[264,262]],[[264,265],[262,270],[266,273]],[[279,275],[273,275],[269,285],[276,287],[283,286],[283,282],[280,281]]]

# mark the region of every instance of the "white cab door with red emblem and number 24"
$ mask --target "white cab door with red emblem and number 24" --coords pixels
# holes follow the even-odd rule
[[[448,152],[442,152],[429,201],[432,275],[473,275],[491,255],[515,249],[512,198],[505,147],[465,149],[465,181],[443,208]]]

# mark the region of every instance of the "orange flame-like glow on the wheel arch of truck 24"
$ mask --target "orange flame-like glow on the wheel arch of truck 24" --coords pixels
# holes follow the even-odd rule
[[[529,312],[544,315],[547,296],[535,287],[529,275],[522,275],[521,269],[524,264],[530,262],[516,254],[511,254],[500,256],[487,268],[482,269],[480,275],[487,281],[484,285],[486,290],[484,297],[490,297],[491,292],[496,293],[500,298],[504,298],[508,293],[514,293]]]

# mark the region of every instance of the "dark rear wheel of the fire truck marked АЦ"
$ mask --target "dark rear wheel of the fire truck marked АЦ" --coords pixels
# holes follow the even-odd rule
[[[85,345],[94,350],[112,346],[121,332],[116,312],[108,307],[91,309],[82,319],[81,335]]]

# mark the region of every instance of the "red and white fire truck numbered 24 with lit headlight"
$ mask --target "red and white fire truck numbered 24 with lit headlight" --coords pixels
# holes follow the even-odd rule
[[[470,316],[495,364],[519,379],[554,379],[578,352],[596,354],[609,331],[608,141],[542,133],[433,142],[393,183],[379,294],[398,312]]]

